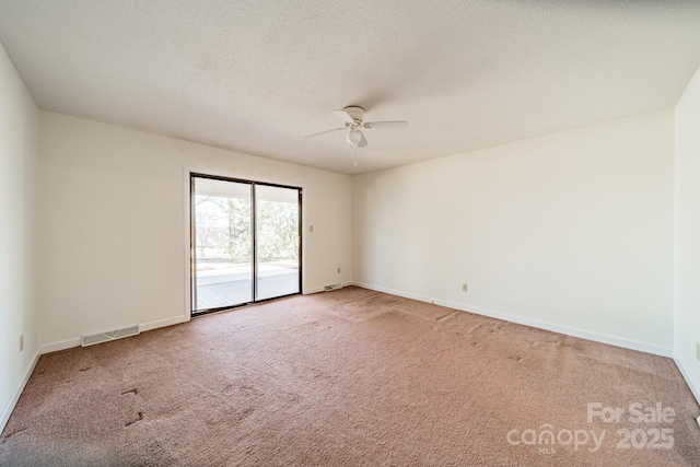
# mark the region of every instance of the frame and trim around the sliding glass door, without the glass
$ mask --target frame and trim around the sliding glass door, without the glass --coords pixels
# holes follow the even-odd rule
[[[195,311],[195,280],[196,280],[196,275],[195,275],[195,268],[196,268],[196,250],[195,250],[195,232],[194,232],[194,226],[195,223],[192,222],[192,214],[194,214],[194,177],[203,177],[203,178],[212,178],[212,179],[220,179],[220,180],[224,180],[224,182],[235,182],[235,183],[244,183],[244,184],[253,184],[253,185],[264,185],[264,186],[272,186],[272,187],[279,187],[279,188],[290,188],[290,189],[296,189],[299,191],[299,294],[304,294],[304,283],[305,283],[305,268],[303,267],[306,264],[306,257],[305,257],[305,237],[303,235],[304,233],[304,219],[306,218],[305,215],[305,203],[303,202],[303,194],[304,194],[304,188],[305,185],[304,184],[298,184],[298,185],[290,185],[288,182],[285,180],[280,180],[280,179],[271,179],[271,178],[266,178],[266,177],[257,177],[256,179],[249,179],[246,178],[246,175],[243,174],[233,174],[233,173],[229,173],[229,172],[220,172],[220,171],[211,171],[211,170],[206,170],[206,168],[195,168],[195,167],[184,167],[184,182],[185,182],[185,235],[186,235],[186,242],[185,242],[185,260],[186,260],[186,265],[187,265],[187,270],[188,272],[185,275],[185,319],[189,320],[192,317],[197,317],[197,316],[202,316],[209,313],[217,313],[220,311],[224,311],[224,310],[232,310],[235,307],[240,307],[240,306],[247,306],[252,303],[262,303],[269,300],[276,300],[279,299],[281,296],[290,296],[290,295],[295,295],[295,294],[290,294],[290,295],[281,295],[278,297],[272,297],[272,299],[265,299],[265,300],[255,300],[255,295],[253,296],[253,302],[248,302],[248,303],[244,303],[244,304],[240,304],[240,305],[232,305],[232,306],[226,306],[226,307],[222,307],[222,308],[214,308],[214,310],[208,310],[206,312],[200,312],[200,313],[192,313]],[[255,200],[252,199],[253,208],[255,209]],[[254,215],[255,217],[255,215]],[[255,220],[254,220],[255,221]],[[253,237],[255,237],[255,234],[253,235]],[[255,248],[255,246],[254,246]],[[254,249],[253,252],[254,255],[257,255],[257,252]],[[257,258],[254,258],[254,265],[257,264]],[[255,266],[254,266],[255,268]],[[254,279],[257,277],[257,273],[254,271]],[[255,280],[253,281],[255,282]],[[255,287],[255,284],[254,284]]]

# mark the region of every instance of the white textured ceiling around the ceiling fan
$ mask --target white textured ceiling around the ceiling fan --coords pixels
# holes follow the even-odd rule
[[[40,108],[348,174],[673,106],[700,1],[0,0]],[[329,112],[368,130],[358,166]]]

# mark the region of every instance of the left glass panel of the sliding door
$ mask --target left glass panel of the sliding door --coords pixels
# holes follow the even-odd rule
[[[253,185],[205,177],[192,185],[192,313],[253,302]]]

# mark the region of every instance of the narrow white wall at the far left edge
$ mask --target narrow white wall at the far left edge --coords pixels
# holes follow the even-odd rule
[[[0,430],[38,350],[33,300],[38,118],[34,101],[0,46]]]

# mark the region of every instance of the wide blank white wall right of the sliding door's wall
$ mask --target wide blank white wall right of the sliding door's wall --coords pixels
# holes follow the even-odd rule
[[[357,176],[354,280],[670,355],[673,185],[673,109]]]

